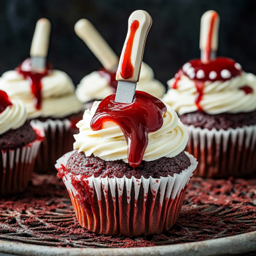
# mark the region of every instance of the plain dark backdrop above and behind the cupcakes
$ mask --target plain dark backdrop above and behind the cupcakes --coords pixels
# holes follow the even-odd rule
[[[199,57],[200,18],[209,9],[221,21],[218,55],[256,73],[255,0],[1,0],[0,72],[29,57],[35,23],[46,17],[52,24],[49,60],[77,84],[100,63],[74,33],[76,21],[89,19],[120,56],[128,17],[136,9],[152,16],[144,61],[164,84],[182,64]]]

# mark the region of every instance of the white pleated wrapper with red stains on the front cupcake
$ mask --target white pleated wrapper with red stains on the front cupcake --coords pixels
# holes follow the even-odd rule
[[[57,161],[62,172],[69,152]],[[142,178],[90,178],[65,174],[63,182],[70,193],[76,217],[82,227],[95,233],[150,235],[169,230],[176,222],[182,207],[184,193],[193,176],[197,161],[189,155],[192,165],[174,177]],[[82,180],[89,186],[94,209],[88,211],[80,205],[78,192],[71,178]],[[88,191],[88,190],[87,190]]]

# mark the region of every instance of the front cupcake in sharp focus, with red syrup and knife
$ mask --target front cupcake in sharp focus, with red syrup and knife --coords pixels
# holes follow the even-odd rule
[[[145,40],[151,17],[135,11],[129,31],[135,21],[144,27],[138,26],[137,35]],[[139,75],[143,48],[132,51],[140,61],[135,61],[130,78],[124,79],[138,80],[135,74]],[[120,75],[128,74],[123,72],[128,65],[123,68],[122,63],[116,76],[119,81],[124,80]],[[170,106],[138,90],[132,92],[132,102],[121,103],[116,100],[122,90],[119,86],[116,94],[94,102],[84,112],[76,124],[74,151],[57,161],[58,176],[82,227],[127,237],[162,233],[178,218],[197,162],[184,152],[188,132]]]

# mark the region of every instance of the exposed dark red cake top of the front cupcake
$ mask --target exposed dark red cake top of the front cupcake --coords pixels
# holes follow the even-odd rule
[[[168,175],[174,176],[174,174],[180,174],[183,170],[191,165],[190,158],[181,152],[174,158],[160,158],[154,161],[142,161],[142,164],[138,168],[132,168],[129,164],[126,164],[122,160],[116,161],[105,161],[101,158],[84,155],[84,152],[78,153],[77,151],[70,156],[66,163],[66,170],[68,173],[74,175],[84,175],[94,177],[105,178],[122,178],[124,175],[126,178],[140,179],[141,176],[144,178],[160,178],[167,177]]]

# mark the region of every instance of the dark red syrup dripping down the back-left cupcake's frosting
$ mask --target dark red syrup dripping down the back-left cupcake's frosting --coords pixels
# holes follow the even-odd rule
[[[29,80],[31,84],[31,91],[35,96],[35,108],[41,109],[41,104],[42,104],[41,79],[51,73],[51,71],[53,70],[52,64],[47,63],[45,72],[43,73],[33,72],[32,66],[31,66],[31,60],[28,58],[28,59],[25,59],[25,61],[23,61],[23,63],[21,63],[16,68],[16,70],[17,72],[19,72],[19,74],[22,74],[25,79]]]

